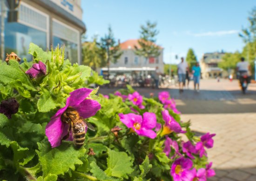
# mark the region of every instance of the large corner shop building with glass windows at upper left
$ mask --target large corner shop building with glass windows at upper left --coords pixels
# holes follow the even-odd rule
[[[43,50],[65,45],[66,58],[81,62],[81,34],[86,31],[81,0],[1,0],[0,6],[4,55],[15,52],[31,59],[27,52],[33,42]]]

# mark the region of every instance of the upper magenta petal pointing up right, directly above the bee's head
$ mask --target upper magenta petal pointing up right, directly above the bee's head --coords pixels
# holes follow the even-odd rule
[[[66,103],[67,106],[75,106],[80,104],[89,94],[92,92],[92,89],[81,88],[73,92],[70,92],[69,102]]]

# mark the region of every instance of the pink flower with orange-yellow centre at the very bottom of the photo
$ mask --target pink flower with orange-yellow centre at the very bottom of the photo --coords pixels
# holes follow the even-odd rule
[[[193,162],[189,158],[178,158],[173,162],[171,167],[171,175],[174,181],[192,181],[194,174],[192,168]]]

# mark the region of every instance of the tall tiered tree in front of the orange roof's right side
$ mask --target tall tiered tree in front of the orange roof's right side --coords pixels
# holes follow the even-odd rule
[[[138,43],[140,47],[135,46],[135,54],[143,56],[145,58],[149,57],[158,57],[160,55],[160,46],[155,45],[156,38],[155,36],[159,33],[155,29],[156,23],[151,23],[150,21],[146,22],[146,26],[141,26],[141,35]]]

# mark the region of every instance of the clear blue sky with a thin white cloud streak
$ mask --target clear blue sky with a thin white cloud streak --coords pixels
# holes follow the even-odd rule
[[[81,0],[88,39],[100,37],[111,25],[114,36],[124,42],[138,39],[147,20],[157,23],[157,45],[164,48],[165,63],[178,63],[193,48],[197,59],[205,52],[242,51],[238,36],[249,26],[255,0]]]

